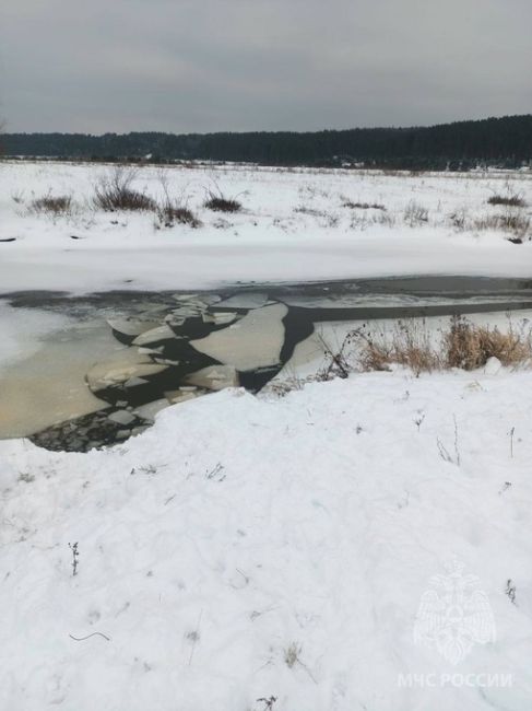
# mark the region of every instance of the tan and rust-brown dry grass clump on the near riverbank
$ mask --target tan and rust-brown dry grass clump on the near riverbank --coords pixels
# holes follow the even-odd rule
[[[415,320],[399,322],[389,339],[374,339],[362,330],[351,338],[360,345],[356,360],[363,371],[386,371],[399,364],[418,375],[451,368],[471,371],[494,357],[507,366],[532,361],[532,331],[516,330],[511,323],[503,333],[497,327],[476,326],[456,316],[441,334],[439,345],[434,345],[425,324]]]

